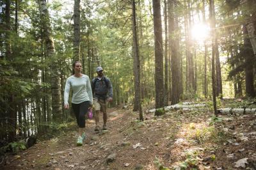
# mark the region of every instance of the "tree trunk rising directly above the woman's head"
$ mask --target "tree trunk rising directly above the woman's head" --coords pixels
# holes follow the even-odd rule
[[[80,0],[74,0],[74,57],[73,60],[80,60]]]

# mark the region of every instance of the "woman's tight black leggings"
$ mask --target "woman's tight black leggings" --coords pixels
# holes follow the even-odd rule
[[[90,101],[84,101],[79,104],[72,103],[73,111],[76,115],[76,122],[80,128],[85,127],[85,115],[88,112]]]

